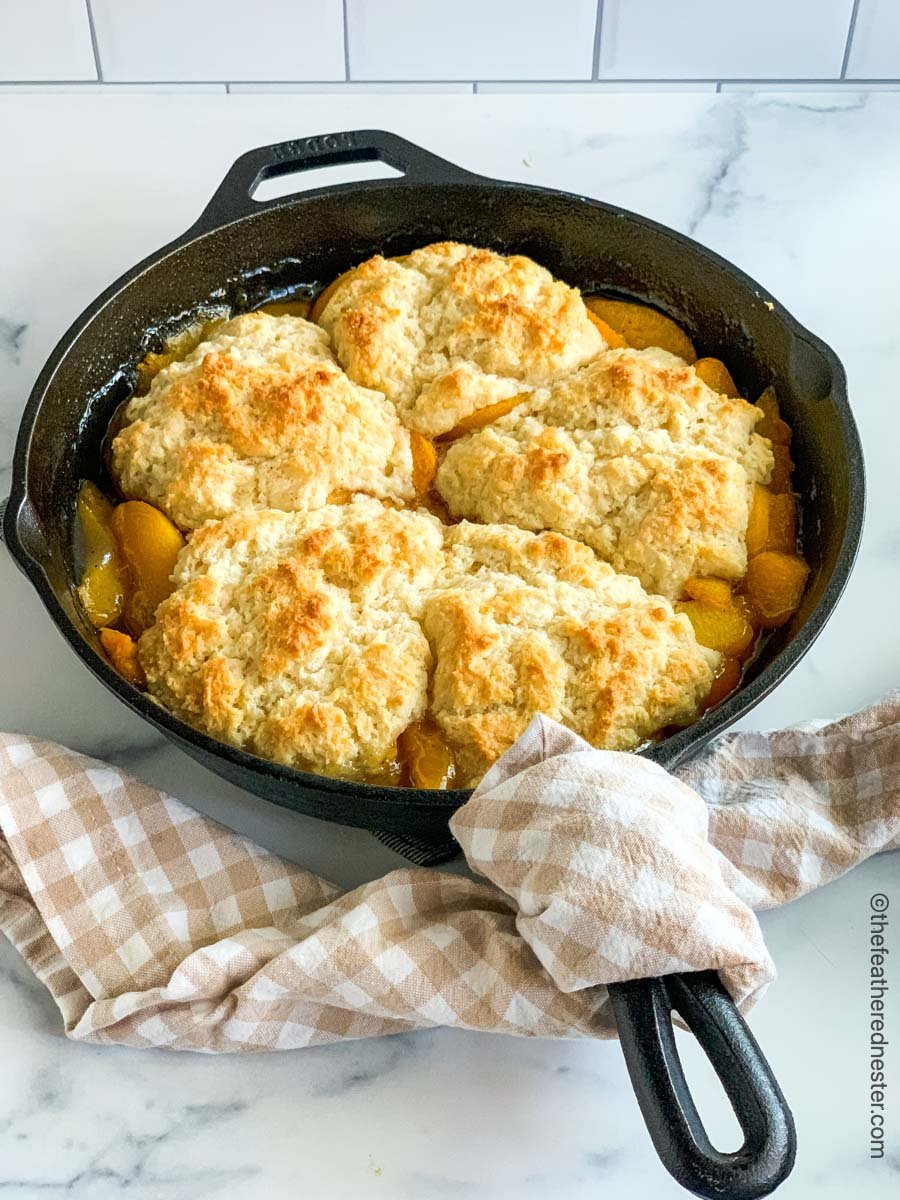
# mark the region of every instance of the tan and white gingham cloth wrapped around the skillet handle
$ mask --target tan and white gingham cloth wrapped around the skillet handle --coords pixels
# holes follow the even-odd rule
[[[752,910],[900,846],[900,694],[726,736],[678,775],[536,718],[452,821],[487,882],[407,869],[341,894],[102,762],[2,734],[0,929],[70,1037],[134,1046],[605,1037],[607,983],[707,967],[746,1008],[773,978]]]

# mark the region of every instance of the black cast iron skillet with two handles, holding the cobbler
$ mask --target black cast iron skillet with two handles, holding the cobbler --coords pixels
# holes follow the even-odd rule
[[[368,160],[389,163],[402,178],[252,199],[268,176]],[[288,808],[424,838],[446,836],[467,792],[379,788],[292,770],[190,728],[128,686],[74,604],[72,534],[79,480],[97,478],[104,430],[128,394],[149,330],[176,328],[204,305],[252,308],[300,284],[326,283],[376,251],[402,254],[443,239],[520,251],[584,292],[602,288],[654,304],[686,328],[701,354],[727,361],[743,395],[778,388],[794,430],[797,487],[808,500],[803,545],[811,582],[803,607],[773,635],[740,690],[646,751],[674,767],[784,679],[833,612],[862,532],[863,460],[844,370],[829,347],[730,263],[608,204],[473,175],[384,132],[250,151],[199,221],[112,284],[50,355],[22,420],[4,521],[16,560],[66,641],[107,688],[184,750]],[[793,1164],[791,1114],[718,978],[671,976],[610,992],[635,1091],[667,1169],[704,1196],[750,1200],[772,1192]],[[714,1150],[703,1130],[678,1061],[672,1009],[697,1036],[734,1108],[745,1136],[734,1153]]]

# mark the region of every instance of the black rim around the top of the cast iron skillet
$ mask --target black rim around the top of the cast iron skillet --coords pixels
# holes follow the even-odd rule
[[[365,134],[355,136],[364,137]],[[377,137],[395,139],[395,136],[392,134],[378,133]],[[419,148],[410,146],[410,149],[418,150]],[[254,151],[251,151],[250,155],[245,157],[250,158],[253,154]],[[425,151],[420,151],[420,154],[425,154]],[[787,646],[779,652],[773,661],[768,664],[768,666],[766,666],[758,676],[751,679],[746,685],[739,688],[726,701],[701,716],[692,725],[678,731],[658,745],[638,751],[646,757],[671,769],[684,757],[701,750],[703,745],[710,740],[710,738],[724,732],[733,725],[734,721],[749,713],[750,709],[758,704],[761,700],[763,700],[779,683],[781,683],[782,679],[786,678],[786,676],[797,666],[821,634],[847,584],[859,550],[863,532],[863,520],[865,512],[865,467],[859,432],[847,398],[846,373],[844,371],[844,366],[838,355],[826,342],[802,325],[797,318],[793,317],[774,296],[770,296],[761,284],[742,271],[740,268],[722,258],[720,254],[715,253],[715,251],[703,246],[701,242],[697,242],[684,234],[677,233],[667,226],[662,226],[649,217],[641,216],[640,214],[626,209],[620,209],[612,204],[606,204],[605,202],[593,199],[592,197],[580,196],[577,193],[558,188],[536,187],[527,184],[517,184],[475,175],[456,167],[452,163],[445,163],[442,160],[433,158],[432,156],[428,157],[431,158],[432,164],[437,162],[440,163],[442,167],[446,168],[444,175],[445,182],[452,182],[462,186],[468,184],[473,187],[490,186],[506,191],[518,191],[527,194],[544,193],[562,197],[590,208],[604,210],[620,220],[634,222],[643,228],[653,229],[655,233],[670,238],[682,246],[689,247],[694,253],[698,254],[701,258],[706,258],[710,264],[724,268],[726,271],[731,272],[732,276],[734,276],[737,281],[748,289],[748,292],[754,293],[761,302],[770,304],[774,308],[775,316],[778,316],[779,319],[787,326],[788,331],[794,337],[800,338],[814,347],[828,361],[832,371],[830,398],[845,439],[850,479],[847,524],[840,551],[834,560],[830,577],[818,598],[815,608],[810,612],[804,624],[794,634]],[[432,181],[440,180],[439,173],[436,173],[433,166],[431,176]],[[220,191],[214,196],[214,200],[210,202],[210,205],[196,224],[187,229],[181,236],[174,239],[158,251],[142,259],[138,264],[110,283],[109,287],[101,292],[100,295],[91,301],[86,308],[84,308],[84,311],[76,318],[54,347],[40,376],[37,377],[37,380],[35,382],[23,410],[12,463],[10,502],[4,516],[4,534],[19,568],[34,584],[44,607],[53,618],[54,624],[76,654],[78,654],[92,674],[98,678],[101,683],[103,683],[115,696],[118,696],[119,700],[127,704],[132,712],[156,726],[161,732],[174,737],[176,742],[188,743],[210,757],[223,758],[242,770],[266,775],[281,784],[293,785],[302,790],[312,790],[319,793],[330,793],[335,797],[344,796],[355,800],[371,802],[374,809],[383,809],[388,806],[406,810],[415,809],[437,815],[444,812],[449,817],[452,811],[460,808],[460,805],[463,804],[472,794],[470,790],[458,788],[436,792],[422,788],[380,787],[372,784],[335,779],[328,775],[317,775],[311,772],[298,770],[293,767],[286,767],[281,763],[271,762],[268,758],[252,755],[246,750],[239,750],[235,746],[229,746],[227,743],[218,742],[209,734],[187,725],[185,721],[181,721],[179,718],[174,716],[161,704],[154,701],[149,695],[138,691],[136,688],[131,686],[131,684],[126,683],[125,679],[122,679],[122,677],[114,671],[114,668],[103,658],[101,658],[90,642],[84,637],[82,631],[72,620],[70,620],[68,614],[56,599],[43,568],[28,551],[25,540],[22,535],[22,529],[28,524],[29,520],[26,484],[28,461],[32,430],[41,402],[56,368],[71,350],[72,343],[77,340],[80,332],[100,316],[106,305],[115,295],[138,278],[138,276],[140,276],[145,270],[163,262],[166,257],[174,251],[180,250],[193,241],[202,240],[208,234],[230,226],[239,226],[244,221],[253,220],[268,209],[290,208],[294,204],[301,206],[302,203],[310,198],[336,196],[350,191],[376,192],[382,190],[395,190],[408,185],[415,186],[418,182],[421,182],[421,180],[415,178],[400,178],[310,188],[300,193],[300,196],[294,194],[263,203],[253,202],[252,211],[242,211],[236,216],[227,214],[226,211],[223,220],[216,220],[217,214],[215,212],[214,205],[221,197],[222,190],[220,188]],[[212,220],[209,220],[210,217],[212,217]],[[336,818],[340,820],[337,814]]]

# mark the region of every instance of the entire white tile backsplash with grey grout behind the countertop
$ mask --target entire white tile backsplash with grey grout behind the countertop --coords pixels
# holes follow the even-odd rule
[[[371,95],[900,85],[900,0],[0,0],[0,88]]]

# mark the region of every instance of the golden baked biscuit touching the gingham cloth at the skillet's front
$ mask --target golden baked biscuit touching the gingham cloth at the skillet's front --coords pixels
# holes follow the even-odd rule
[[[700,715],[719,655],[637,580],[558,534],[446,529],[446,586],[426,602],[432,713],[474,785],[535,713],[632,750]]]

